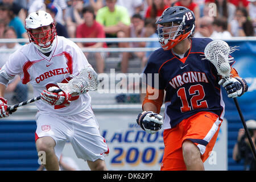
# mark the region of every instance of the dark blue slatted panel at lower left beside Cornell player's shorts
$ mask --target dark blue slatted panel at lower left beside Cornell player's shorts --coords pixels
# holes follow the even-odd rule
[[[35,121],[0,122],[0,171],[35,171]]]

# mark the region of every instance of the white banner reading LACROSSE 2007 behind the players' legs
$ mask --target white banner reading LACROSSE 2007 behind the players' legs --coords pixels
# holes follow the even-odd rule
[[[139,112],[139,111],[138,111]],[[137,112],[111,111],[95,113],[101,135],[106,139],[109,154],[105,156],[106,166],[115,171],[159,171],[163,158],[163,130],[150,135],[135,121]],[[70,143],[63,150],[63,156],[73,158],[81,170],[89,170],[82,159],[77,159]],[[227,125],[222,122],[216,145],[205,170],[227,170]]]

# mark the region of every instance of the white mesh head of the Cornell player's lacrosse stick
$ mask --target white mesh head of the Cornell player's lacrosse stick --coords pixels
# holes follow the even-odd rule
[[[81,94],[86,90],[96,91],[98,87],[97,73],[90,67],[84,68],[79,75],[73,76],[68,83],[57,83],[66,93]]]

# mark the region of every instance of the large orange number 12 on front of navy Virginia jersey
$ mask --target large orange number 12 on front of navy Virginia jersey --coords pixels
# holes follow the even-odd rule
[[[208,108],[207,101],[203,100],[205,92],[202,85],[192,85],[188,89],[188,93],[190,96],[193,95],[189,101],[187,100],[187,95],[184,87],[177,90],[177,96],[182,102],[182,106],[180,107],[182,113],[200,108]]]

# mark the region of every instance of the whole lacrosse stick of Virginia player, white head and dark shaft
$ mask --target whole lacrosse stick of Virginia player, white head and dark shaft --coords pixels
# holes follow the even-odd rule
[[[214,40],[207,44],[204,49],[204,55],[205,59],[208,59],[217,69],[218,75],[221,75],[224,79],[227,79],[231,76],[229,55],[234,51],[236,51],[236,47],[229,47],[228,44],[222,40]],[[245,119],[243,118],[237,98],[234,98],[234,102],[236,104],[237,111],[240,115],[243,127],[245,129],[246,136],[249,139],[251,151],[253,152],[254,158],[256,159],[255,147],[253,141],[251,140],[249,130],[247,129]]]

